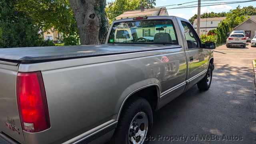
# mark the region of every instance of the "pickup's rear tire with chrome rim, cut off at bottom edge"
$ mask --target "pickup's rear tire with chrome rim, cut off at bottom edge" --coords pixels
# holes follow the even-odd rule
[[[152,108],[149,102],[141,97],[134,97],[122,108],[120,118],[111,144],[146,144],[153,126]],[[143,137],[143,138],[142,138]]]

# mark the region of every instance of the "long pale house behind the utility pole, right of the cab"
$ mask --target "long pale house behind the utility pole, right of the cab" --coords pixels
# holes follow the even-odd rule
[[[225,20],[226,17],[217,18],[200,18],[200,32],[207,33],[209,30],[217,29],[218,24]],[[194,20],[193,27],[197,29],[197,19]]]

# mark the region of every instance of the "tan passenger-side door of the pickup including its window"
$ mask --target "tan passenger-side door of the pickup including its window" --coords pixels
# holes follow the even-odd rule
[[[186,55],[189,61],[188,80],[190,88],[203,78],[204,74],[202,73],[207,70],[208,50],[201,48],[200,39],[191,24],[182,22],[182,27],[188,46]]]

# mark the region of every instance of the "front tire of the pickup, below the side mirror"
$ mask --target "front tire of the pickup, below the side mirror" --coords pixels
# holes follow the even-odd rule
[[[199,90],[208,90],[212,83],[212,64],[209,63],[208,70],[204,78],[198,82],[197,87]]]

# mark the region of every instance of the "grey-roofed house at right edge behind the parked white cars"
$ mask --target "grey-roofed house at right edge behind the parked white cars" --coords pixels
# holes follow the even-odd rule
[[[256,35],[256,16],[250,16],[250,18],[248,18],[232,30],[244,30],[246,37],[254,37]]]

